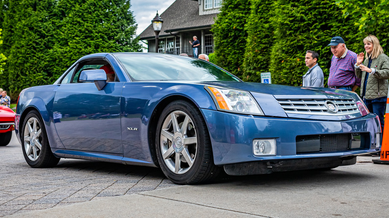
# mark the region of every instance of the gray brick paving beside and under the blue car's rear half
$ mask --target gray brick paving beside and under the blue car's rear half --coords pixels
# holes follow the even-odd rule
[[[61,159],[55,168],[34,169],[14,135],[0,146],[0,216],[174,186],[153,167]]]

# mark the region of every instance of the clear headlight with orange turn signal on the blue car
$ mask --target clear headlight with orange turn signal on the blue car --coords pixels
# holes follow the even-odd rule
[[[218,110],[264,115],[249,92],[205,86]]]

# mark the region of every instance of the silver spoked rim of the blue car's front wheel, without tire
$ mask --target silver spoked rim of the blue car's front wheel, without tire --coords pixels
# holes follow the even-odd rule
[[[160,146],[162,157],[172,172],[184,174],[191,169],[197,153],[197,136],[187,113],[175,110],[165,118]]]

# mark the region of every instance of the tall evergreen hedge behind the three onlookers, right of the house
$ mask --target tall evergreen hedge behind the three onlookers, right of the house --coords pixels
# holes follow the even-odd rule
[[[305,53],[307,50],[314,50],[319,53],[318,63],[323,69],[327,86],[333,56],[327,45],[332,37],[342,36],[347,48],[356,53],[364,51],[362,40],[369,33],[379,37],[384,51],[388,47],[388,31],[384,27],[389,22],[381,22],[380,26],[373,28],[373,32],[363,32],[357,25],[360,17],[353,15],[351,11],[346,14],[348,16],[343,15],[346,10],[340,1],[349,2],[223,1],[221,12],[212,28],[215,64],[244,81],[260,82],[260,73],[271,72],[272,83],[301,86],[302,76],[308,70],[305,66]],[[360,1],[356,0],[356,4]],[[365,1],[360,5],[365,5]],[[389,14],[389,11],[385,13]],[[239,32],[233,29],[237,26]],[[235,37],[240,37],[241,40],[236,40]]]

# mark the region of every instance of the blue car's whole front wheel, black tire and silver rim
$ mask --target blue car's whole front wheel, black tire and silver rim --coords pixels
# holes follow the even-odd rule
[[[156,131],[156,151],[162,171],[176,184],[209,182],[222,171],[214,165],[208,130],[200,111],[185,101],[172,102],[162,111]]]

